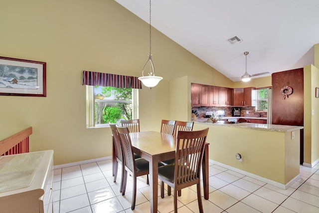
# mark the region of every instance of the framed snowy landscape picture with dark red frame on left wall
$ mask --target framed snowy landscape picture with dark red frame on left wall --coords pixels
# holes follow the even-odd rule
[[[46,62],[0,56],[0,95],[46,97]]]

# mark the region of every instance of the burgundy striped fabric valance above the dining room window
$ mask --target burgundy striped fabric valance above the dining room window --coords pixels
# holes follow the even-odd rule
[[[142,82],[138,79],[138,77],[85,70],[83,71],[82,85],[142,89]]]

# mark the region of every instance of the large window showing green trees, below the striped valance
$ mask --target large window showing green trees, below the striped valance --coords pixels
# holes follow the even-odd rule
[[[86,85],[87,127],[138,119],[138,89]]]

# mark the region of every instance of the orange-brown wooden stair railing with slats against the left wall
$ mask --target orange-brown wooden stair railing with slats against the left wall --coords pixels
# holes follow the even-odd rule
[[[0,141],[0,156],[14,155],[29,152],[29,136],[32,127],[26,128],[6,139]]]

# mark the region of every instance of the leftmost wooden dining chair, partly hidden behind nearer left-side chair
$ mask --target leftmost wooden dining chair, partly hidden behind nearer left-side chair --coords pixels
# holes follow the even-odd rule
[[[110,124],[110,128],[112,130],[113,144],[115,147],[115,156],[116,156],[116,164],[114,166],[115,168],[114,168],[114,181],[113,182],[116,182],[116,178],[118,175],[118,167],[119,167],[119,163],[120,163],[122,165],[120,192],[122,192],[123,177],[124,177],[124,163],[123,163],[122,145],[121,145],[120,135],[119,135],[118,129],[116,127],[116,124]]]

